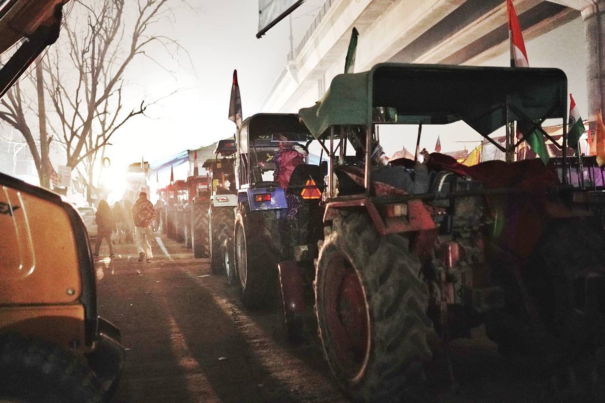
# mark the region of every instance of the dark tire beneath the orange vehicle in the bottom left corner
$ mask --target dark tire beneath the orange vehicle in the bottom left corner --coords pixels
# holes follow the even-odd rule
[[[92,403],[102,398],[99,380],[79,356],[42,339],[0,335],[0,401]]]

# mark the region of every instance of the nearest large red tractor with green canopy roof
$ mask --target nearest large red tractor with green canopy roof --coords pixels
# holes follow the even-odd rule
[[[590,192],[569,180],[575,157],[562,71],[378,64],[336,76],[299,116],[329,167],[325,183],[319,166],[292,175],[293,186],[315,185],[321,198],[290,197],[286,209],[297,211],[275,214],[273,225],[286,222],[278,264],[284,318],[291,337],[317,330],[353,401],[422,401],[433,353],[447,357],[451,340],[481,325],[503,355],[548,376],[586,358],[592,370],[578,379],[591,387],[583,399],[602,400],[590,374],[605,340],[605,249],[590,226]],[[553,142],[560,160],[514,162],[520,143],[549,136],[547,119],[563,125],[562,142]],[[442,139],[473,130],[507,161],[466,166],[417,151],[385,165],[380,143],[419,145],[423,129]],[[504,144],[492,139],[502,131]],[[246,251],[237,243],[247,229],[241,209],[236,252]],[[266,249],[270,238],[257,237]],[[313,306],[315,318],[306,320]],[[454,379],[451,365],[443,367]]]

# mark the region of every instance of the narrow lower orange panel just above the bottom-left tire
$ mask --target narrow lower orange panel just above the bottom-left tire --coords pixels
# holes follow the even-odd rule
[[[0,307],[0,329],[37,336],[83,350],[84,308],[81,305]]]

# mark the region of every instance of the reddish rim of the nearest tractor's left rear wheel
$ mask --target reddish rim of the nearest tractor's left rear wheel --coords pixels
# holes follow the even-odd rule
[[[338,365],[349,379],[368,359],[368,306],[361,279],[344,255],[330,260],[325,274],[325,323]]]

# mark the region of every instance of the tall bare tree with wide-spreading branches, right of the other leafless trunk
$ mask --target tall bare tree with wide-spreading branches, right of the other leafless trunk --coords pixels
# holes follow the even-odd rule
[[[171,18],[178,3],[187,5],[182,0],[78,1],[76,16],[51,50],[45,67],[50,75],[47,90],[59,121],[57,132],[67,148],[67,165],[75,168],[83,163],[87,168],[89,197],[99,151],[150,105],[143,99],[134,107],[126,106],[126,68],[136,57],[157,62],[151,48],[161,47],[173,59],[183,51],[177,41],[158,32],[159,22]]]

